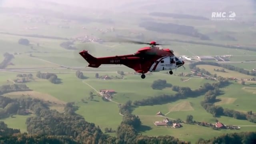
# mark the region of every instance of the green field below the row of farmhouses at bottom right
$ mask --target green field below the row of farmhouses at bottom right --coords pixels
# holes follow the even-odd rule
[[[165,126],[154,126],[154,121],[162,121],[162,117],[140,116],[142,120],[141,134],[147,136],[171,135],[180,140],[191,141],[195,143],[199,138],[209,139],[212,136],[220,136],[232,132],[255,131],[255,127],[242,127],[240,130],[213,130],[209,127],[198,125],[182,124],[182,128],[166,128]]]

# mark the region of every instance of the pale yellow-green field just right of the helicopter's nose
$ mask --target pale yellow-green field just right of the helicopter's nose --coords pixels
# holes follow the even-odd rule
[[[252,76],[246,75],[246,74],[241,74],[239,72],[235,72],[232,70],[227,70],[224,68],[225,72],[217,72],[215,70],[221,70],[223,69],[222,67],[219,66],[211,66],[211,65],[197,65],[198,68],[204,68],[205,70],[207,70],[208,72],[210,72],[211,74],[217,74],[217,76],[222,76],[224,78],[252,78]],[[215,69],[215,70],[214,70]]]

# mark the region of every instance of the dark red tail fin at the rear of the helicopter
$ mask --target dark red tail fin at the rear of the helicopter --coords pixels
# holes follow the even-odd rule
[[[89,63],[88,67],[98,68],[101,65],[98,59],[90,55],[87,50],[83,50],[79,54]]]

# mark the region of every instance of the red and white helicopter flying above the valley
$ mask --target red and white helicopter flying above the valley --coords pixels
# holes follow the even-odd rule
[[[134,41],[133,41],[134,42]],[[159,72],[169,70],[169,74],[173,74],[172,70],[184,65],[184,61],[178,59],[173,51],[169,48],[160,49],[156,42],[150,43],[134,42],[136,44],[149,44],[149,47],[140,48],[134,54],[122,56],[110,56],[95,58],[90,55],[88,50],[83,50],[79,54],[89,63],[88,67],[98,68],[101,64],[123,64],[136,72],[141,73],[141,78],[146,78],[147,72]],[[183,66],[184,67],[184,66]]]

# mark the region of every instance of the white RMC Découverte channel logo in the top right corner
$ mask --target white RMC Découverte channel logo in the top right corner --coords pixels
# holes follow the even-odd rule
[[[226,12],[212,12],[212,20],[235,20],[236,13],[228,12],[228,16]]]

